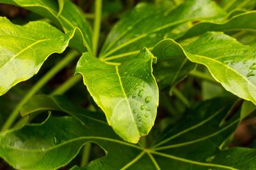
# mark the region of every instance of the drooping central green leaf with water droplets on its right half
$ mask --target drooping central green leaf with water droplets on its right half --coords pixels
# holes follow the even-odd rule
[[[158,88],[152,75],[154,56],[147,48],[134,58],[116,64],[106,63],[90,53],[79,60],[76,73],[94,101],[106,114],[109,125],[126,141],[137,143],[154,125]]]

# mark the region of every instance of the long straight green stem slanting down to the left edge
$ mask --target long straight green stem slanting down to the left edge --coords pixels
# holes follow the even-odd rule
[[[23,97],[23,99],[20,101],[20,103],[16,106],[16,108],[12,111],[10,114],[10,117],[6,120],[4,123],[1,131],[6,131],[6,129],[9,129],[12,127],[13,122],[15,122],[16,118],[19,115],[19,110],[22,108],[22,106],[29,101],[29,99],[40,90],[47,81],[51,80],[51,78],[57,74],[63,67],[67,66],[70,61],[72,61],[79,53],[76,51],[71,51],[68,53],[68,55],[62,59],[56,66],[52,67],[50,71],[48,71],[33,87],[29,92],[26,94],[26,96]]]

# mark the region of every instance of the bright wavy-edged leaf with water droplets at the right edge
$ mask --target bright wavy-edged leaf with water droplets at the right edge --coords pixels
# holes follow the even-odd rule
[[[176,44],[172,39],[165,41]],[[226,90],[256,104],[255,47],[221,32],[207,32],[184,49],[189,60],[204,64]]]

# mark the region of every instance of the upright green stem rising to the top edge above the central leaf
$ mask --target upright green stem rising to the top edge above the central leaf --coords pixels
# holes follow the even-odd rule
[[[101,22],[101,8],[102,8],[102,0],[95,1],[95,20],[93,24],[93,54],[97,55],[97,48],[99,43],[99,33],[100,33],[100,22]]]

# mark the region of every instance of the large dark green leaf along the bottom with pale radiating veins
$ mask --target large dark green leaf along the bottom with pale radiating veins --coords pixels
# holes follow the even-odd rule
[[[255,150],[220,150],[239,122],[236,114],[220,126],[230,108],[228,102],[214,99],[196,106],[183,123],[147,148],[122,141],[106,123],[79,109],[82,113],[74,113],[84,124],[72,117],[49,117],[42,125],[0,134],[0,155],[17,169],[57,169],[90,141],[100,145],[106,157],[73,169],[252,169]]]

